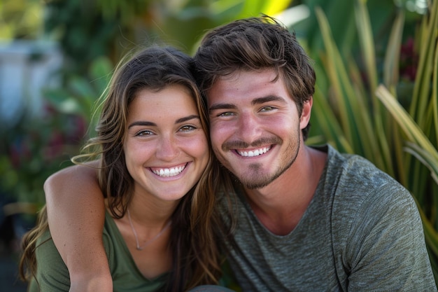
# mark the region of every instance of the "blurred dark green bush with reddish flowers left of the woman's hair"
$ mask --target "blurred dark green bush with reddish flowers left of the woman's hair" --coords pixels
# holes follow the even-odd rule
[[[41,116],[34,118],[24,110],[13,127],[0,127],[0,190],[10,202],[33,204],[34,211],[45,203],[45,179],[71,165],[70,158],[92,134],[87,134],[87,127],[93,104],[106,87],[112,67],[106,58],[94,61],[87,76],[73,76],[65,89],[43,92]]]

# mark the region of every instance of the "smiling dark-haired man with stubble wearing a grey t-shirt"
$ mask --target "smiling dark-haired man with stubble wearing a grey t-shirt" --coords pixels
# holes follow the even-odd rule
[[[304,144],[315,73],[288,29],[271,18],[213,29],[195,67],[213,151],[238,181],[236,229],[225,246],[243,291],[437,291],[409,192],[363,158]],[[101,199],[90,195],[99,193],[90,172],[73,172],[46,183],[50,228],[69,224],[59,233],[74,236],[55,243],[74,277],[89,281],[83,274],[91,267],[99,274],[106,269],[104,251],[95,247],[100,222],[90,226],[91,218],[101,221],[100,211],[95,214]],[[73,188],[71,175],[90,186]],[[62,218],[78,200],[82,211],[73,206]],[[229,223],[225,205],[220,210]],[[82,227],[71,225],[78,216]],[[87,246],[100,260],[85,267],[80,253]]]

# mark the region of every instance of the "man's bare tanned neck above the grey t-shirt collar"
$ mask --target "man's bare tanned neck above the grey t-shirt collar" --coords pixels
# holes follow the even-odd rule
[[[268,186],[245,190],[260,222],[276,235],[295,229],[313,198],[323,173],[327,153],[302,146],[297,160]]]

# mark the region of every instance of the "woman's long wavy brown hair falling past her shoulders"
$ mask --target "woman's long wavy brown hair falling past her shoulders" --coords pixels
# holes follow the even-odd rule
[[[125,165],[123,141],[128,106],[139,90],[159,91],[169,85],[183,85],[197,104],[203,130],[209,135],[206,104],[190,71],[192,65],[191,57],[174,48],[153,46],[133,55],[127,62],[121,62],[115,69],[106,95],[102,96],[97,137],[90,139],[84,147],[87,153],[73,158],[75,163],[81,163],[84,158],[100,158],[99,184],[114,218],[125,215],[133,195],[134,181]],[[218,237],[224,234],[224,230],[215,203],[225,178],[211,151],[209,155],[201,179],[181,199],[172,214],[170,247],[173,265],[163,291],[185,291],[201,284],[214,284],[220,277],[222,257]],[[20,261],[23,279],[29,280],[35,275],[38,238],[47,229],[47,214],[43,209],[36,227],[23,237]]]

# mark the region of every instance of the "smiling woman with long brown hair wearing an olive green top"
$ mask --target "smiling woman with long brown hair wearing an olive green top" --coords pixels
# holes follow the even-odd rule
[[[215,230],[221,225],[213,207],[221,178],[191,62],[178,50],[154,46],[121,63],[101,103],[97,137],[73,158],[100,161],[88,165],[97,168],[105,196],[103,242],[112,279],[100,281],[99,291],[186,291],[220,277]],[[57,251],[68,244],[51,239],[43,209],[23,239],[20,273],[29,291],[93,288],[80,286],[70,270],[74,259]]]

